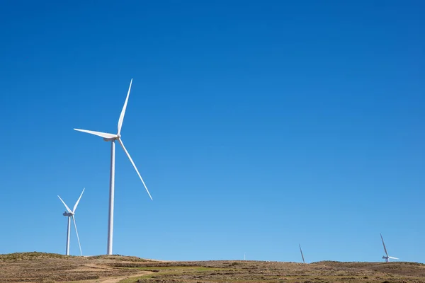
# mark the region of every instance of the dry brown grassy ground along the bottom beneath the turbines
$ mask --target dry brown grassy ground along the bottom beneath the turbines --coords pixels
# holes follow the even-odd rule
[[[74,257],[46,253],[0,255],[0,282],[376,282],[425,283],[414,262],[164,262],[135,257]]]

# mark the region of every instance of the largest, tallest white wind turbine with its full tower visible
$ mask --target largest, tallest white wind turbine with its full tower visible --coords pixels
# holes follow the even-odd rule
[[[121,127],[123,126],[123,120],[125,115],[125,109],[127,108],[128,103],[128,96],[130,96],[130,89],[131,89],[132,79],[130,81],[130,87],[128,88],[127,98],[125,98],[125,103],[123,106],[123,110],[121,110],[120,119],[118,120],[118,132],[117,134],[109,134],[105,132],[94,132],[89,131],[86,129],[75,129],[79,132],[86,132],[89,134],[94,134],[99,137],[103,137],[104,141],[111,141],[111,174],[110,174],[110,181],[109,181],[109,219],[108,219],[108,246],[106,249],[106,253],[108,255],[112,255],[112,242],[113,242],[113,200],[114,200],[114,186],[115,186],[115,141],[118,141],[123,147],[125,154],[127,154],[128,158],[130,159],[130,162],[132,163],[132,166],[135,168],[137,175],[139,175],[140,180],[142,180],[143,185],[145,186],[145,189],[147,191],[147,194],[149,195],[150,199],[152,200],[152,196],[149,193],[149,190],[147,190],[147,187],[145,185],[145,181],[143,181],[142,176],[140,175],[139,171],[137,170],[137,167],[132,161],[132,158],[130,154],[128,154],[127,149],[125,149],[125,146],[123,144],[123,140],[121,139]]]

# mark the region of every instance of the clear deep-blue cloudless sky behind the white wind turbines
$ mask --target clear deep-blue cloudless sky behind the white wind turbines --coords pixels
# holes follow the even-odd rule
[[[424,262],[423,1],[3,1],[0,253]],[[118,3],[120,2],[120,3]],[[351,2],[351,3],[348,3]],[[79,253],[74,231],[71,253]]]

